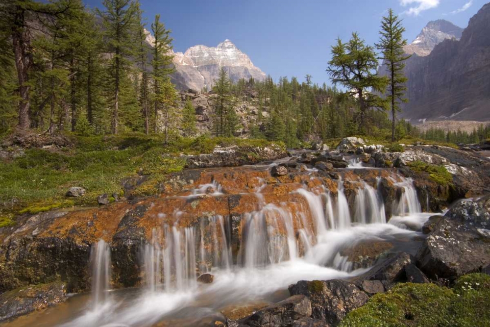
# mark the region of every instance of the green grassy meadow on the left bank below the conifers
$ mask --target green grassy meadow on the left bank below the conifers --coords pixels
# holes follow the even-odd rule
[[[141,133],[67,137],[72,147],[55,151],[32,148],[22,157],[0,161],[0,216],[95,205],[101,194],[121,195],[121,180],[136,174],[149,175],[139,194],[151,195],[163,176],[184,168],[185,159],[180,154],[209,153],[216,146],[271,145],[264,140],[206,136],[180,138],[164,145],[162,135]],[[285,148],[280,142],[275,144]],[[86,189],[85,195],[66,198],[73,186]],[[11,224],[11,220],[2,219],[0,224]]]

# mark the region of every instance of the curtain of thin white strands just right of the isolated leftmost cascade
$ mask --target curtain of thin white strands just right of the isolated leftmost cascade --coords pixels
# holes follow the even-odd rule
[[[153,232],[153,244],[143,248],[147,289],[182,291],[196,286],[196,236],[193,227],[165,226],[165,246]],[[162,278],[163,277],[163,278]],[[163,279],[163,280],[162,280]]]

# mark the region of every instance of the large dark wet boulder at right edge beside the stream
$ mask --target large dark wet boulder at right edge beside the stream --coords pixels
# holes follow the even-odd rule
[[[490,264],[490,195],[454,205],[417,252],[417,266],[431,278],[454,279]]]

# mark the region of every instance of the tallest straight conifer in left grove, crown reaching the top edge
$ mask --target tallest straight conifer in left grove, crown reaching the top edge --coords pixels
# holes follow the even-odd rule
[[[132,0],[104,0],[104,11],[98,10],[105,28],[107,52],[111,53],[113,109],[111,131],[118,133],[119,93],[122,75],[130,70],[128,57],[134,54],[133,31],[136,6]]]

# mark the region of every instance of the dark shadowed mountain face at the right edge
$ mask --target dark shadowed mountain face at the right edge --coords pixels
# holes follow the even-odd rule
[[[402,105],[402,117],[489,120],[489,30],[490,3],[470,19],[460,40],[446,39],[430,54],[410,58],[405,67],[409,102]],[[420,40],[419,44],[425,42]]]

